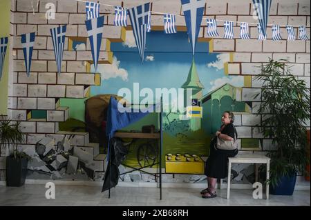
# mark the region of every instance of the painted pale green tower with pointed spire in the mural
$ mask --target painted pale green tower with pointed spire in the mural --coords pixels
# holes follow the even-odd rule
[[[196,71],[196,63],[194,62],[194,59],[192,60],[191,63],[191,68],[189,70],[187,81],[185,81],[185,83],[182,84],[182,88],[184,89],[185,107],[189,105],[187,103],[190,103],[191,106],[193,101],[197,101],[198,103],[198,101],[202,98],[202,89],[204,89],[204,86],[202,85],[198,77],[198,72]],[[190,92],[187,92],[188,89],[191,89]],[[190,129],[192,131],[199,130],[201,128],[200,118],[191,118],[189,120],[189,123]]]

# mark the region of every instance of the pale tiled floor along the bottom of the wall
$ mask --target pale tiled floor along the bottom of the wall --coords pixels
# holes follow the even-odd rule
[[[0,186],[0,206],[310,206],[310,191],[301,190],[269,200],[253,199],[252,190],[231,190],[226,199],[223,189],[214,199],[202,199],[198,189],[163,188],[162,200],[158,188],[117,187],[111,199],[99,186],[56,186],[55,199],[46,199],[46,190],[44,185]]]

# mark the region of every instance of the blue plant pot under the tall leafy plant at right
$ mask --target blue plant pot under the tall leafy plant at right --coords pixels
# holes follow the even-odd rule
[[[270,194],[276,195],[288,195],[291,196],[294,193],[294,188],[296,185],[296,173],[288,176],[281,177],[279,186],[271,186]]]

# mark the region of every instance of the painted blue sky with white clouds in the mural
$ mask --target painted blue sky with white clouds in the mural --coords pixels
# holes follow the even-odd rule
[[[207,42],[196,45],[195,62],[198,76],[205,86],[203,95],[223,83],[243,86],[242,77],[225,77],[223,62],[228,54],[209,54]],[[147,33],[145,60],[142,63],[131,32],[126,33],[126,42],[111,43],[113,64],[99,65],[102,86],[92,86],[91,94],[117,94],[120,88],[133,90],[133,83],[141,88],[180,88],[187,79],[191,67],[192,52],[187,32],[164,34]]]

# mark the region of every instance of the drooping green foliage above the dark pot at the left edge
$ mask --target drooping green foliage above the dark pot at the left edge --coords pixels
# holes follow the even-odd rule
[[[13,146],[14,150],[10,155],[11,157],[15,157],[15,159],[20,159],[23,157],[30,159],[27,154],[17,150],[17,143],[24,142],[25,138],[23,132],[21,132],[19,121],[15,122],[8,119],[3,119],[0,121],[0,154],[1,150],[4,148]]]

